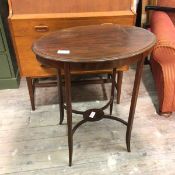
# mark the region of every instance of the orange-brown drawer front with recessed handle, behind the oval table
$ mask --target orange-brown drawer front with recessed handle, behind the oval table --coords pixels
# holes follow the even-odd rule
[[[95,25],[102,23],[116,23],[121,25],[133,25],[134,15],[105,16],[105,17],[77,17],[77,18],[34,18],[12,19],[11,24],[15,37],[19,36],[42,36],[59,29]]]

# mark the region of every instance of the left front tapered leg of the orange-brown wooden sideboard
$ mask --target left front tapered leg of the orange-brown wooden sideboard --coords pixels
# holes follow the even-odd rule
[[[26,81],[27,81],[32,110],[34,111],[35,110],[35,98],[34,98],[35,87],[33,85],[33,79],[31,77],[26,77]]]

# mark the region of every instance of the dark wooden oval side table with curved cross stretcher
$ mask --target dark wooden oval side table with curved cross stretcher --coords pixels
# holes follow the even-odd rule
[[[155,36],[142,28],[116,24],[80,26],[59,30],[41,37],[33,44],[33,52],[42,64],[58,70],[60,117],[63,121],[67,110],[69,166],[72,165],[73,134],[83,123],[109,118],[126,125],[126,145],[130,152],[131,130],[145,57],[156,42]],[[116,68],[137,63],[128,121],[111,116],[114,99]],[[71,104],[72,70],[113,69],[109,102],[100,109],[78,111]],[[63,104],[61,70],[64,71],[65,102]],[[110,115],[104,110],[110,106]],[[82,114],[83,120],[72,128],[72,113]],[[62,123],[62,122],[61,122]]]

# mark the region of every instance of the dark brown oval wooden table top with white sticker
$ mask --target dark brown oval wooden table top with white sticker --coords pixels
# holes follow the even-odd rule
[[[36,55],[66,63],[114,61],[139,55],[156,42],[154,34],[134,26],[89,25],[58,30],[33,44]]]

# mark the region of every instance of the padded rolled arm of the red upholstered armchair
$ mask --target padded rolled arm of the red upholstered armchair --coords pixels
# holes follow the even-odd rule
[[[159,63],[175,63],[175,27],[165,12],[155,11],[151,18],[151,31],[157,37],[153,58]]]

